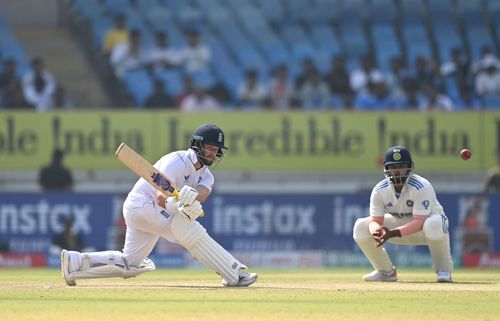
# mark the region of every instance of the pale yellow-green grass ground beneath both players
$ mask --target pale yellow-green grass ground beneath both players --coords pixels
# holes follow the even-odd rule
[[[0,320],[500,320],[500,270],[398,271],[366,283],[368,269],[257,270],[249,288],[224,288],[207,270],[161,269],[133,279],[81,280],[55,269],[0,270]]]

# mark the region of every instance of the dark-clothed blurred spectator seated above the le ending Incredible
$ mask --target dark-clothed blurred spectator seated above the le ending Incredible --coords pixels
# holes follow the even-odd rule
[[[354,92],[349,80],[349,72],[342,56],[331,59],[330,71],[325,76],[325,81],[333,94],[340,95],[344,105],[352,107]]]

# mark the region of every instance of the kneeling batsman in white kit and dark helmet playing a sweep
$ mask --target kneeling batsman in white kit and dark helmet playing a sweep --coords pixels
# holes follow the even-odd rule
[[[169,178],[178,197],[167,197],[140,178],[123,205],[127,225],[123,252],[80,253],[63,250],[61,269],[68,285],[86,278],[129,278],[155,270],[147,258],[159,237],[182,245],[193,257],[222,277],[224,286],[249,286],[256,273],[220,246],[196,219],[214,185],[210,171],[223,158],[223,131],[212,124],[197,128],[188,150],[163,156],[154,167]]]

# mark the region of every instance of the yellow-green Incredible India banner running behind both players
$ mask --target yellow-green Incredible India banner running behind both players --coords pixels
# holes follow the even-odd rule
[[[500,151],[500,112],[0,112],[0,170],[37,169],[54,148],[72,169],[124,169],[114,158],[121,142],[155,162],[187,148],[203,123],[226,135],[218,170],[373,171],[401,144],[419,170],[482,171]]]

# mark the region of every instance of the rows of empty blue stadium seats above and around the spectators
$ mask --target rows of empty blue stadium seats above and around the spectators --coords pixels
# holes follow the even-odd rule
[[[74,26],[81,35],[86,33],[87,52],[101,76],[109,78],[105,83],[120,106],[143,107],[155,78],[164,81],[169,95],[177,96],[187,76],[230,109],[236,107],[236,90],[250,69],[269,86],[281,65],[287,66],[288,78],[295,82],[304,59],[312,59],[326,77],[332,57],[343,57],[352,72],[366,55],[385,75],[391,73],[390,61],[402,58],[405,79],[417,80],[417,58],[425,58],[436,89],[459,105],[461,91],[474,89],[485,48],[494,56],[500,49],[498,0],[71,0],[70,4],[78,18]],[[180,53],[177,64],[151,68],[145,63],[112,75],[102,48],[116,15],[124,16],[127,29],[141,33],[145,51],[154,45],[157,32],[165,32],[171,48]],[[198,32],[200,47],[208,48],[210,63],[203,70],[184,68],[190,59],[183,53],[189,48],[187,31]],[[14,56],[18,71],[26,71],[22,45],[1,17],[0,34],[0,59]],[[468,65],[476,67],[465,79],[440,74],[439,66],[450,62],[454,50],[461,50]],[[405,86],[399,87],[408,89]],[[227,94],[216,94],[214,88]],[[480,98],[484,107],[498,107],[495,95]],[[328,107],[338,108],[338,97],[332,95],[331,101]]]

